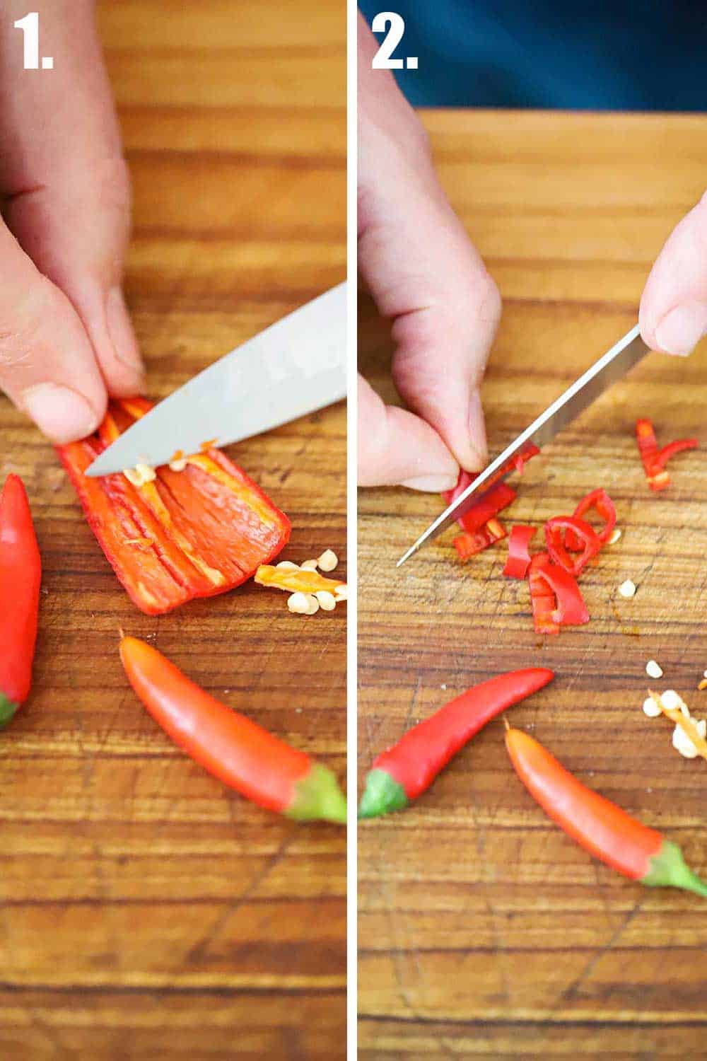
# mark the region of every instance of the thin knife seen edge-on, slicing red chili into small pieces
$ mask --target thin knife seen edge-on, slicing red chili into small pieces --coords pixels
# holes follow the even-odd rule
[[[477,475],[469,484],[464,492],[460,493],[444,509],[442,515],[438,516],[434,523],[430,523],[425,533],[420,535],[416,543],[410,545],[407,553],[401,556],[396,567],[400,568],[418,550],[422,549],[426,542],[432,541],[439,534],[446,530],[491,486],[495,486],[500,479],[505,479],[506,475],[513,471],[512,465],[506,471],[501,471],[500,469],[503,468],[503,465],[511,462],[513,457],[520,456],[530,446],[543,447],[546,442],[549,442],[559,431],[567,427],[593,401],[599,398],[612,383],[616,383],[617,380],[625,376],[629,369],[638,364],[641,358],[648,352],[649,347],[646,346],[640,337],[638,325],[636,325],[623,338],[619,340],[616,346],[613,346],[599,361],[595,362],[590,368],[587,368],[586,372],[580,376],[579,380],[576,380],[556,401],[553,401],[544,413],[541,413],[537,419],[533,420],[530,427],[526,428],[515,441],[511,442],[495,460],[491,462],[480,475]]]

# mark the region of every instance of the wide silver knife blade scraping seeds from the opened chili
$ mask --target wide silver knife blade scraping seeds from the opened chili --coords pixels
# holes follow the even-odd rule
[[[177,450],[227,446],[340,401],[347,393],[347,285],[340,283],[225,354],[96,457],[86,474],[156,468]]]

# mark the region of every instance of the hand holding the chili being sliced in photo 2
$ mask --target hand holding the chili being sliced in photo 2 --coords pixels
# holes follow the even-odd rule
[[[358,481],[452,488],[487,459],[479,385],[500,296],[437,179],[422,125],[359,16],[358,264],[392,320],[392,375],[408,408],[358,387]]]

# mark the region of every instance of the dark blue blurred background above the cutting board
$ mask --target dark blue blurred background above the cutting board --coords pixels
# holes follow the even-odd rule
[[[405,19],[416,106],[707,110],[707,0],[363,0]],[[381,41],[383,36],[376,34]]]

